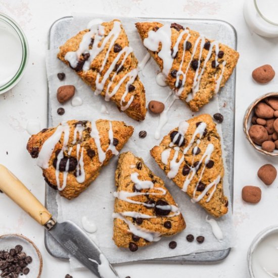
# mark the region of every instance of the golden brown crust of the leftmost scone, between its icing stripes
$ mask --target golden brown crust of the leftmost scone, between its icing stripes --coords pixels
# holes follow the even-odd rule
[[[100,136],[100,142],[101,147],[103,151],[106,151],[109,147],[110,139],[108,135],[108,131],[110,129],[108,120],[97,120],[96,126],[99,131]],[[72,158],[73,160],[77,157],[77,145],[79,145],[79,158],[80,158],[80,152],[83,148],[83,162],[84,162],[84,171],[85,171],[85,180],[84,182],[79,183],[76,179],[76,167],[74,170],[69,171],[67,175],[67,186],[64,190],[59,191],[60,195],[67,198],[72,199],[77,197],[82,191],[84,191],[90,183],[96,179],[96,177],[99,175],[99,172],[101,168],[106,165],[109,160],[112,158],[113,154],[111,150],[108,150],[106,152],[106,158],[101,163],[99,161],[99,155],[98,155],[98,149],[95,143],[94,138],[90,136],[91,131],[91,122],[90,121],[77,121],[77,120],[71,120],[67,122],[70,127],[70,133],[69,133],[69,141],[67,145],[67,150],[64,151],[64,156],[67,158]],[[133,127],[125,125],[124,122],[119,121],[111,121],[112,129],[113,129],[113,137],[117,139],[118,144],[116,145],[116,149],[120,151],[124,144],[127,142],[129,137],[133,133]],[[77,142],[74,143],[74,130],[76,128],[76,125],[83,125],[84,130],[82,131],[82,138],[79,139],[79,136],[77,137]],[[31,154],[33,158],[37,157],[44,142],[48,140],[49,137],[51,137],[54,132],[56,131],[57,127],[49,128],[49,129],[43,129],[37,134],[32,135],[29,138],[28,144],[27,144],[27,150]],[[57,189],[57,181],[56,181],[56,175],[55,175],[55,164],[57,163],[57,154],[59,153],[59,150],[62,149],[64,142],[64,133],[61,136],[60,141],[56,144],[50,161],[49,161],[49,167],[47,169],[42,169],[43,176],[45,178],[45,181],[47,183]],[[71,154],[68,154],[69,148],[72,147]],[[79,148],[78,147],[78,148]],[[59,172],[59,181],[60,184],[63,184],[63,172]]]

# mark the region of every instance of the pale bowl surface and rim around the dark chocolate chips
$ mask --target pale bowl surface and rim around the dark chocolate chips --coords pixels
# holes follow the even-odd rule
[[[35,244],[28,238],[18,234],[0,236],[0,250],[10,250],[18,244],[23,247],[23,252],[25,252],[27,256],[31,256],[33,259],[33,261],[28,264],[30,272],[23,276],[26,278],[40,278],[42,271],[42,258]]]

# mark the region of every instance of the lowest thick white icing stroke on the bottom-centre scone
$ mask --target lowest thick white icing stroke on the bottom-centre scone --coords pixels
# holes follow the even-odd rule
[[[121,213],[113,213],[112,217],[123,220],[128,225],[130,233],[137,237],[143,238],[149,242],[156,242],[161,239],[161,235],[159,233],[141,228],[138,225],[134,225],[130,220],[123,217]]]

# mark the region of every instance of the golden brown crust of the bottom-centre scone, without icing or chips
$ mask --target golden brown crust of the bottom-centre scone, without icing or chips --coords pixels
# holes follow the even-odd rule
[[[133,165],[133,166],[132,166]],[[131,167],[130,167],[131,166]],[[127,191],[134,192],[134,182],[131,180],[131,173],[137,172],[138,178],[140,180],[150,180],[154,183],[153,189],[143,189],[142,193],[160,193],[157,188],[161,188],[166,191],[165,195],[140,195],[131,197],[131,200],[137,202],[147,202],[153,200],[157,202],[158,200],[166,201],[169,205],[175,205],[176,203],[173,200],[170,193],[164,186],[164,182],[161,178],[156,176],[144,163],[142,158],[135,157],[131,152],[123,153],[119,156],[118,167],[115,172],[115,184],[117,191]],[[132,204],[118,198],[115,199],[114,205],[115,213],[122,213],[126,211],[135,211],[150,216],[156,216],[154,208],[147,208],[142,204]],[[170,213],[172,214],[172,212]],[[126,219],[135,224],[135,221],[132,217],[125,216]],[[170,221],[171,227],[166,228],[164,223]],[[153,231],[161,234],[161,236],[172,236],[179,233],[186,227],[186,223],[181,215],[169,217],[157,215],[155,218],[144,219],[143,222],[138,225],[140,228],[146,229],[148,231]],[[129,231],[128,225],[119,218],[114,219],[114,236],[113,240],[118,247],[128,247],[129,243],[134,243],[138,247],[145,246],[151,242],[147,242],[143,238],[140,238],[138,241],[133,241],[132,233]]]

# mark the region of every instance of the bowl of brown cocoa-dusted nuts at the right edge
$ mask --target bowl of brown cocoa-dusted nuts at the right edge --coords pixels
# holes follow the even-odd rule
[[[278,92],[265,94],[248,107],[243,130],[258,152],[278,156]]]

